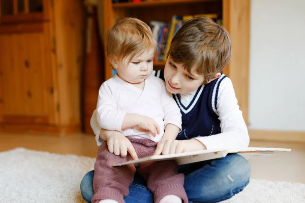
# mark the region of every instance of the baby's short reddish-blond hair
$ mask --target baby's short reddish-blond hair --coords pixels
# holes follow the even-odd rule
[[[107,54],[113,65],[114,57],[129,61],[137,54],[157,48],[149,26],[137,18],[124,18],[113,25],[107,33]]]

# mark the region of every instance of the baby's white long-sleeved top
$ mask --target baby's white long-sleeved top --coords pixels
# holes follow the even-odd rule
[[[160,127],[160,134],[154,137],[137,126],[121,131],[127,113],[153,118]],[[154,142],[162,139],[168,123],[181,129],[181,114],[177,104],[166,90],[164,81],[153,75],[145,80],[143,90],[117,75],[105,81],[99,90],[96,120],[98,126],[104,129],[121,131],[124,136],[145,138]]]

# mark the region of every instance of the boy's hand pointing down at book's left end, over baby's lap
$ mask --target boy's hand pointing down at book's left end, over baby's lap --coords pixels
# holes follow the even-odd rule
[[[123,136],[121,132],[112,132],[113,133],[107,140],[108,151],[110,153],[114,153],[116,156],[120,155],[123,158],[127,156],[128,152],[134,160],[139,159],[131,142],[125,136]]]

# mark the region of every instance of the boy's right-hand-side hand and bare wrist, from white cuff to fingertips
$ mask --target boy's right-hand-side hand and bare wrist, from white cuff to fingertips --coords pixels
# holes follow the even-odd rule
[[[178,154],[183,152],[192,152],[205,150],[206,147],[196,139],[191,140],[169,140],[162,139],[153,155],[160,154]]]

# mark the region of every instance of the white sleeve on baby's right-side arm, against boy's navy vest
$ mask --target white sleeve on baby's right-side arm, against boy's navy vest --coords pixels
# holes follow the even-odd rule
[[[164,126],[166,126],[168,123],[171,123],[179,127],[179,129],[181,130],[182,115],[180,113],[180,109],[176,104],[175,100],[173,99],[172,94],[166,90],[165,83],[163,81],[160,82],[162,82],[161,104],[164,112]]]

